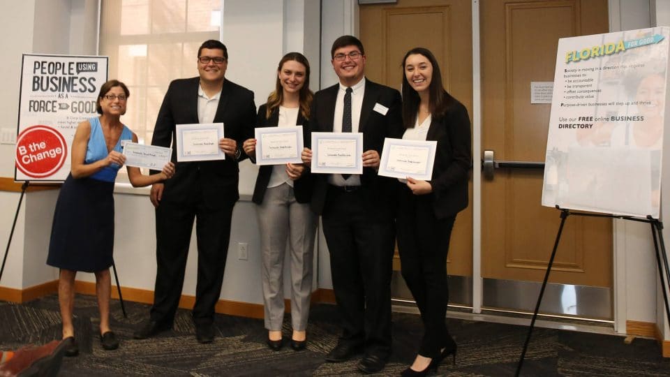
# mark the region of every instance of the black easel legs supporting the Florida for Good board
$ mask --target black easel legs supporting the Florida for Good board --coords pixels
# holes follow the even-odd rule
[[[560,226],[558,227],[558,234],[556,235],[556,242],[553,244],[553,251],[551,251],[551,257],[549,258],[549,264],[546,266],[546,273],[544,274],[544,281],[542,281],[542,288],[539,290],[539,296],[537,297],[537,304],[535,304],[535,311],[533,312],[533,319],[530,320],[530,327],[528,327],[528,335],[526,336],[526,342],[523,343],[523,350],[521,351],[521,358],[519,358],[519,364],[516,367],[515,376],[519,376],[521,373],[521,367],[523,366],[523,359],[526,357],[526,350],[528,350],[528,343],[530,343],[530,335],[533,333],[533,327],[535,327],[535,320],[537,319],[537,312],[539,311],[539,304],[542,303],[542,296],[544,295],[544,288],[546,287],[546,281],[549,280],[549,272],[551,272],[551,265],[553,265],[553,258],[556,256],[556,250],[558,249],[558,242],[560,241],[560,234],[563,232],[563,225],[565,224],[565,219],[567,216],[588,216],[588,217],[607,217],[610,219],[623,219],[630,221],[639,221],[641,223],[649,223],[651,226],[651,235],[654,239],[654,249],[656,250],[656,264],[658,267],[658,273],[661,279],[661,290],[663,292],[663,299],[665,302],[665,313],[667,318],[670,319],[670,305],[668,304],[668,292],[667,292],[667,279],[670,279],[670,268],[668,266],[668,256],[665,252],[665,242],[663,241],[663,223],[658,219],[654,219],[651,216],[647,216],[646,219],[640,219],[633,216],[618,216],[611,214],[586,214],[583,212],[569,212],[568,209],[561,209],[556,206],[556,209],[560,210]],[[660,246],[660,247],[659,247]]]

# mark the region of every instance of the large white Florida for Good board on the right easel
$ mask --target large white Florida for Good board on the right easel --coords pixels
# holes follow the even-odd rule
[[[559,40],[542,205],[658,219],[669,37]]]

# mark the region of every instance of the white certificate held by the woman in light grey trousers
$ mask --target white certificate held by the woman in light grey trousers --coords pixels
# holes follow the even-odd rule
[[[302,163],[302,126],[255,129],[256,165]]]

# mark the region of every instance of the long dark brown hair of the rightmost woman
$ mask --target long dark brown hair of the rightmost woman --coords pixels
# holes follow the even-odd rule
[[[433,66],[433,77],[428,89],[430,96],[428,109],[433,119],[444,117],[455,101],[454,97],[450,96],[442,86],[442,73],[440,73],[440,66],[438,65],[438,59],[435,59],[435,55],[424,47],[412,48],[403,58],[403,124],[405,124],[405,128],[414,128],[417,112],[419,111],[419,102],[421,102],[419,94],[412,88],[407,81],[407,75],[405,75],[407,58],[414,54],[423,55]]]

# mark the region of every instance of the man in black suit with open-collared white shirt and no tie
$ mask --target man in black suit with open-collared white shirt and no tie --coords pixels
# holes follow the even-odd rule
[[[221,295],[228,254],[232,208],[239,199],[237,162],[242,142],[253,135],[253,92],[225,80],[228,50],[207,40],[198,50],[199,77],[174,80],[158,112],[152,145],[170,147],[174,176],[151,187],[156,207],[156,288],[150,318],[135,339],[152,337],[172,327],[179,305],[193,221],[198,218],[198,284],[193,323],[200,343],[214,339],[214,306]],[[177,124],[223,123],[218,146],[225,160],[177,163]]]

